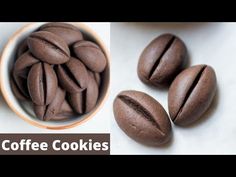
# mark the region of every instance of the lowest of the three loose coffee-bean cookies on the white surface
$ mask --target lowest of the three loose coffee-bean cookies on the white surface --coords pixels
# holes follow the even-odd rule
[[[121,92],[115,98],[113,111],[119,127],[137,142],[159,146],[171,138],[171,123],[166,111],[143,92]]]

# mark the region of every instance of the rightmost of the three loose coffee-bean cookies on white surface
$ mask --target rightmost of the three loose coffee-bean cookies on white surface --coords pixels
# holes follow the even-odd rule
[[[209,108],[216,93],[216,75],[208,65],[182,71],[172,82],[168,94],[169,114],[176,125],[189,125]]]

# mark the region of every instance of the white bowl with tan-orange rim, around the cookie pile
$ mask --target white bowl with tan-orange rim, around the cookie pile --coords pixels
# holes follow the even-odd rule
[[[96,42],[103,50],[103,52],[106,55],[106,58],[108,60],[108,65],[106,69],[101,73],[102,83],[100,86],[100,94],[98,98],[98,102],[96,107],[89,113],[76,116],[68,120],[64,121],[41,121],[36,118],[32,106],[29,104],[29,102],[20,102],[16,99],[14,96],[11,86],[10,86],[10,72],[12,70],[12,67],[14,65],[16,51],[18,48],[18,45],[33,31],[36,31],[41,25],[44,23],[32,23],[29,25],[24,26],[20,30],[18,30],[8,41],[7,45],[5,46],[2,57],[1,57],[1,89],[2,94],[7,102],[7,104],[10,106],[13,111],[23,118],[24,120],[28,121],[31,124],[34,124],[39,127],[48,128],[48,129],[64,129],[64,128],[70,128],[75,125],[78,125],[82,123],[83,121],[87,120],[88,118],[92,117],[98,109],[102,106],[102,103],[105,101],[108,87],[109,87],[109,79],[110,79],[110,64],[109,64],[109,54],[108,50],[106,49],[104,43],[99,38],[99,36],[90,29],[87,25],[83,23],[73,23],[73,25],[77,26],[81,32],[84,34],[85,39],[89,39],[93,42]]]

